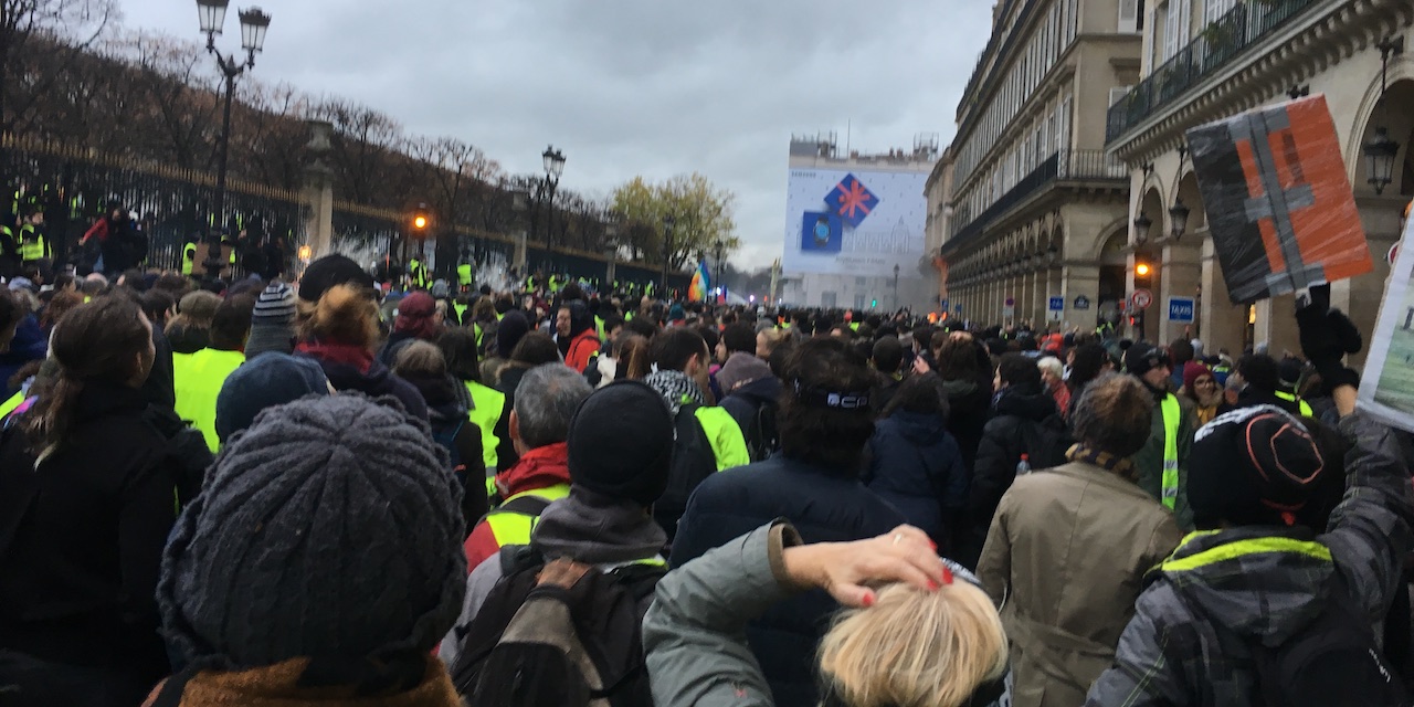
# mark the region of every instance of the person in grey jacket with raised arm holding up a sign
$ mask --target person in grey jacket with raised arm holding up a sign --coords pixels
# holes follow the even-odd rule
[[[1340,362],[1360,348],[1348,341],[1350,321],[1319,304],[1297,321],[1340,431],[1356,440],[1343,469],[1275,406],[1203,427],[1189,496],[1205,532],[1145,577],[1114,666],[1086,704],[1408,704],[1372,632],[1407,592],[1408,468],[1391,430],[1356,410],[1359,375]],[[1321,532],[1302,510],[1322,477],[1342,471],[1345,498]]]

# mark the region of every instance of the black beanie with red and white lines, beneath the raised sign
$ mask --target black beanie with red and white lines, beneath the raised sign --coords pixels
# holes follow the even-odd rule
[[[1193,436],[1188,505],[1203,526],[1291,525],[1325,467],[1311,433],[1285,410],[1233,410]]]

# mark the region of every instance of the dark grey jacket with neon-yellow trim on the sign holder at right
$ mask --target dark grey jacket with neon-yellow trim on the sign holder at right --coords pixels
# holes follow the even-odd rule
[[[1414,549],[1414,493],[1387,427],[1355,413],[1340,431],[1356,447],[1346,454],[1345,498],[1329,532],[1241,526],[1185,537],[1148,574],[1114,666],[1087,706],[1256,704],[1243,643],[1295,633],[1322,611],[1338,575],[1372,626],[1383,619]],[[1256,543],[1273,537],[1277,547]]]

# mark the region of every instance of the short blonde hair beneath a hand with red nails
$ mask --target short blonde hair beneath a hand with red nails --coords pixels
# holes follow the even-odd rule
[[[956,707],[1007,670],[1007,633],[977,587],[892,584],[872,608],[841,612],[820,642],[826,689],[851,707]]]

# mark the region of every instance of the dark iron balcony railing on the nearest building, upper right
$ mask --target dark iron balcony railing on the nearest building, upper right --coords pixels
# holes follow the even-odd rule
[[[1249,0],[1209,24],[1172,59],[1150,74],[1123,99],[1110,106],[1104,140],[1113,143],[1188,93],[1217,69],[1264,40],[1316,0]]]

